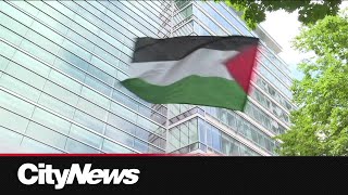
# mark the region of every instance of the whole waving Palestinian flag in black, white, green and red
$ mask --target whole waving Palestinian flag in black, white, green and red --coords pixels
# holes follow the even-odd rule
[[[138,38],[122,84],[153,104],[244,110],[258,44],[243,36]]]

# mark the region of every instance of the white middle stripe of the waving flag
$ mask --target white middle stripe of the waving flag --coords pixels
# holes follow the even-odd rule
[[[192,75],[233,80],[224,63],[237,53],[199,49],[179,61],[132,63],[130,77],[158,86],[167,86]]]

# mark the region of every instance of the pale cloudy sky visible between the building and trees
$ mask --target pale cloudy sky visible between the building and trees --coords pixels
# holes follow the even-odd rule
[[[348,8],[348,1],[343,1],[340,9]],[[297,64],[312,55],[312,53],[300,53],[291,48],[291,40],[299,34],[301,24],[297,20],[297,12],[287,13],[283,10],[266,13],[265,22],[260,25],[276,40],[283,48],[278,54],[291,72],[291,77],[300,79],[302,74],[297,70]]]

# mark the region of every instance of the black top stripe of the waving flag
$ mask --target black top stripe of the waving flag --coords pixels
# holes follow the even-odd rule
[[[198,49],[240,51],[248,46],[257,46],[254,37],[187,36],[167,39],[138,38],[132,62],[178,61]]]

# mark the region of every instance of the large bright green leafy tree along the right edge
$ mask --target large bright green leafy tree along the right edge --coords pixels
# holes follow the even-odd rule
[[[298,109],[293,126],[278,139],[281,155],[348,156],[348,16],[347,10],[303,27],[294,40],[315,57],[300,63],[304,77],[291,88]]]

